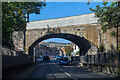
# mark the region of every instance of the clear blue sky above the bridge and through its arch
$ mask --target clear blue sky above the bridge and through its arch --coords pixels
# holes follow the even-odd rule
[[[46,4],[40,14],[30,14],[30,22],[93,13],[89,8],[94,9],[97,5],[102,6],[102,2],[90,2],[89,5],[87,2],[46,2]],[[51,38],[45,41],[70,43],[60,38]]]

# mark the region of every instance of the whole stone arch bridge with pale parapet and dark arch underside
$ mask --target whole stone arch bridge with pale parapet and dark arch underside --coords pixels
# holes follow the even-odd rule
[[[105,51],[116,46],[116,39],[110,35],[113,30],[103,34],[94,13],[33,21],[27,24],[25,50],[33,55],[33,47],[37,43],[49,38],[64,38],[78,45],[82,54],[93,55],[102,43]]]

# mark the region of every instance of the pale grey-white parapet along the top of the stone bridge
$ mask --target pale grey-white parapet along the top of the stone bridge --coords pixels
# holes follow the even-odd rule
[[[78,16],[57,18],[57,19],[33,21],[27,24],[27,29],[47,28],[47,24],[50,27],[62,27],[62,26],[70,26],[70,25],[93,24],[93,23],[98,23],[98,18],[95,18],[95,14],[91,13],[91,14],[84,14]]]

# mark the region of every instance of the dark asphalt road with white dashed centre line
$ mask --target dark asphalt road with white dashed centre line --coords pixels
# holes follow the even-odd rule
[[[81,80],[85,78],[114,78],[108,74],[99,74],[88,71],[85,68],[74,66],[74,65],[59,65],[52,61],[44,61],[30,66],[29,68],[12,70],[4,72],[3,78],[19,78],[19,79],[47,79],[47,80]],[[112,79],[111,79],[112,80]]]

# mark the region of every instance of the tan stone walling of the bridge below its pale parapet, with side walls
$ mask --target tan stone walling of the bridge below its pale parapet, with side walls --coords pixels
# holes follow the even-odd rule
[[[110,33],[115,31],[115,29],[110,29],[107,32],[103,33],[99,24],[86,24],[86,25],[71,25],[64,27],[52,27],[49,29],[50,33],[69,33],[74,34],[80,37],[84,37],[93,44],[89,53],[92,51],[96,53],[97,48],[103,43],[104,51],[107,52],[111,49],[116,48],[116,38],[111,36]],[[47,28],[40,29],[29,29],[26,31],[26,53],[28,53],[29,46],[38,40],[40,37],[48,34]],[[19,48],[23,49],[23,39],[24,37],[22,31],[15,32],[14,34],[14,43]],[[120,42],[120,40],[119,40]],[[92,53],[91,53],[92,54]]]

